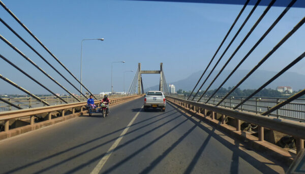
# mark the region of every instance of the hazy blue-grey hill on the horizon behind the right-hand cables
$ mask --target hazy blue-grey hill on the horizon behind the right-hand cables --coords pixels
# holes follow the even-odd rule
[[[245,77],[250,70],[238,70],[236,71],[230,79],[224,84],[223,87],[228,88],[235,86],[243,77]],[[194,86],[196,85],[198,79],[202,75],[203,71],[199,71],[196,73],[193,73],[191,76],[189,76],[186,79],[182,79],[176,82],[167,82],[169,84],[174,84],[176,91],[178,89],[183,90],[192,90]],[[210,73],[210,71],[206,72],[203,76],[202,80],[200,81],[200,85],[205,80],[207,75]],[[212,79],[216,77],[216,75],[219,73],[219,71],[215,71],[211,74],[209,79],[206,81],[203,88],[206,88]],[[219,85],[225,80],[225,78],[231,73],[231,70],[225,70],[222,72],[222,74],[217,78],[217,80],[214,82],[213,85],[209,89],[216,89],[219,87]],[[240,89],[257,89],[261,85],[263,85],[265,82],[267,82],[271,77],[276,75],[277,72],[270,72],[270,71],[263,71],[258,70],[254,74],[252,74],[248,80],[243,82],[240,85]],[[305,88],[305,75],[301,75],[298,73],[292,73],[292,72],[286,72],[282,76],[280,76],[277,80],[273,81],[271,84],[269,84],[266,88],[276,89],[278,86],[291,86],[293,90],[299,90]],[[158,90],[159,85],[149,87],[147,89],[150,90]],[[144,89],[144,91],[147,91],[147,89]]]

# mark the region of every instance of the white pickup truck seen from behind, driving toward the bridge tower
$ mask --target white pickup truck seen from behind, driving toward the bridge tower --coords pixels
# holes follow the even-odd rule
[[[144,98],[144,111],[148,108],[161,108],[162,112],[165,111],[165,96],[162,91],[148,91]]]

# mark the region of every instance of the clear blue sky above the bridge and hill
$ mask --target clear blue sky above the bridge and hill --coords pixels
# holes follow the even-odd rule
[[[296,2],[296,5],[299,2],[300,0]],[[168,83],[184,79],[194,72],[205,69],[242,8],[241,5],[110,0],[3,0],[3,3],[78,78],[80,77],[81,40],[105,38],[103,42],[84,41],[83,44],[83,83],[94,93],[110,91],[110,64],[113,61],[126,61],[125,64],[113,64],[115,91],[123,91],[123,72],[136,71],[138,62],[141,62],[144,70],[159,69],[160,62],[163,62]],[[253,6],[248,6],[243,12],[224,46],[227,46],[252,8]],[[216,69],[222,67],[265,8],[259,6],[255,10]],[[234,68],[283,10],[283,7],[271,8],[226,69]],[[305,9],[303,8],[290,9],[240,69],[251,69],[304,17],[304,14]],[[3,8],[0,8],[0,16],[77,85],[76,81],[72,80],[72,77]],[[62,83],[71,92],[77,93],[2,24],[0,24],[0,31],[2,36],[34,60],[55,80]],[[305,28],[302,26],[260,69],[278,72],[303,53],[304,33]],[[225,47],[222,47],[220,53],[224,49]],[[0,52],[56,93],[64,93],[2,41],[0,42]],[[216,59],[220,57],[220,53]],[[212,63],[213,66],[215,62]],[[5,61],[0,60],[0,65],[0,74],[4,77],[33,93],[47,93]],[[291,68],[290,72],[305,75],[304,66],[305,61],[302,60]],[[216,74],[212,75],[212,77],[215,76]],[[126,88],[129,87],[133,77],[134,73],[126,73]],[[157,85],[159,76],[143,75],[143,83],[144,88]],[[0,93],[22,93],[4,81],[0,81],[0,86]]]

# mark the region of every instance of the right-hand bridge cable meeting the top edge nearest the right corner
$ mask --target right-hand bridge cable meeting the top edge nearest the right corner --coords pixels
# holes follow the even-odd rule
[[[243,57],[240,62],[235,66],[233,71],[229,74],[229,76],[223,81],[223,83],[214,91],[214,93],[205,101],[207,103],[219,90],[220,88],[228,81],[228,79],[234,74],[237,68],[249,57],[249,55],[256,49],[256,47],[264,40],[264,38],[268,35],[268,33],[276,26],[276,24],[283,18],[283,16],[288,12],[288,10],[292,7],[292,5],[296,2],[296,0],[292,0],[290,4],[286,7],[286,9],[279,15],[279,17],[273,22],[270,27],[266,30],[263,36],[256,42],[256,44],[251,48],[251,50]]]

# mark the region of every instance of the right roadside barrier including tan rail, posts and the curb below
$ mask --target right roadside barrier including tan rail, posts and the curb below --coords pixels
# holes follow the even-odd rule
[[[305,124],[291,121],[287,119],[278,119],[277,117],[268,117],[268,116],[262,116],[250,112],[242,112],[242,111],[236,111],[229,108],[224,107],[216,107],[214,105],[205,104],[201,102],[195,102],[195,101],[189,101],[181,98],[175,98],[171,96],[167,96],[166,99],[172,103],[174,103],[176,106],[186,109],[188,111],[191,111],[195,114],[197,114],[200,117],[205,118],[207,122],[214,126],[226,128],[226,130],[230,130],[233,134],[239,134],[245,133],[245,131],[240,130],[240,124],[241,121],[253,123],[255,125],[258,125],[258,137],[255,137],[251,134],[245,135],[247,137],[251,137],[256,142],[256,145],[263,144],[264,146],[271,147],[271,143],[267,145],[264,141],[264,127],[276,130],[288,135],[292,135],[296,138],[296,147],[297,152],[304,149],[304,139],[305,139]],[[210,115],[207,115],[207,111],[209,111]],[[220,121],[215,120],[219,117]],[[232,119],[235,119],[235,127],[229,126],[226,124],[227,117],[230,117]],[[250,136],[251,135],[251,136]],[[258,144],[257,144],[258,142]],[[276,148],[276,145],[273,145],[274,148]],[[272,147],[273,147],[272,146]],[[280,148],[280,147],[277,147]],[[286,155],[290,156],[287,152]],[[285,156],[285,155],[284,155]]]

